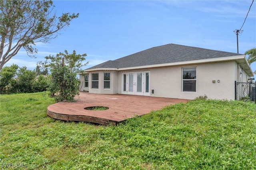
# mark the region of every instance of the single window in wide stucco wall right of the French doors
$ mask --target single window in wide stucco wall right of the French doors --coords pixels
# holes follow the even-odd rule
[[[182,91],[196,92],[196,67],[182,69]]]

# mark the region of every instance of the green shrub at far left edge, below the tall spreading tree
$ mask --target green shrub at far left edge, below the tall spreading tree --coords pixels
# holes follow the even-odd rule
[[[0,93],[7,91],[6,87],[11,83],[11,80],[17,74],[18,65],[12,64],[9,67],[3,67],[0,70]]]

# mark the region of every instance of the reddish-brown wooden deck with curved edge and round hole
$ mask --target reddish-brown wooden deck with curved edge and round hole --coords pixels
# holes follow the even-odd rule
[[[162,109],[166,105],[188,101],[137,95],[102,95],[88,92],[80,92],[77,99],[78,101],[74,103],[59,102],[48,106],[48,116],[64,121],[117,125],[128,118],[145,115],[150,111]],[[84,109],[94,106],[104,106],[109,109],[103,111]]]

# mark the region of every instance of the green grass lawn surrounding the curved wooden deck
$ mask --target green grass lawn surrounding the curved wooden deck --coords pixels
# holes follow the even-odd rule
[[[1,95],[3,169],[256,169],[256,105],[194,100],[116,127],[47,116],[46,93]]]

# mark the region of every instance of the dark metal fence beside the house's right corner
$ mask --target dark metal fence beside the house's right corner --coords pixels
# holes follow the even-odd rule
[[[235,81],[235,100],[250,100],[256,103],[256,83],[237,83]]]

